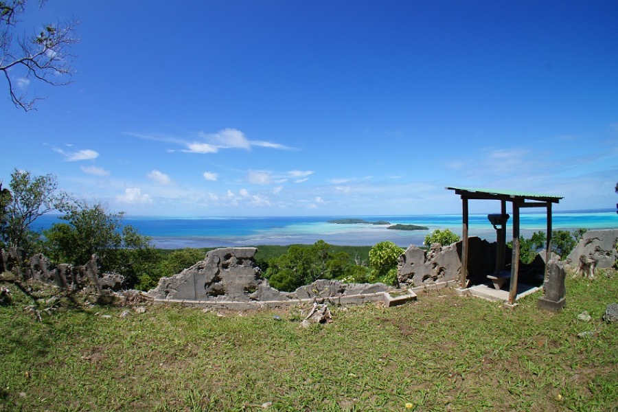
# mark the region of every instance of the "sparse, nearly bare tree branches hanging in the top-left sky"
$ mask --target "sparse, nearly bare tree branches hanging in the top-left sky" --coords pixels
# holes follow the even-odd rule
[[[77,21],[45,24],[41,30],[27,36],[17,35],[19,16],[25,12],[27,0],[0,0],[0,71],[8,82],[11,101],[25,111],[35,109],[42,98],[19,91],[20,84],[31,79],[53,86],[69,84],[74,70],[71,46],[78,43],[75,37]],[[39,2],[39,8],[45,0]],[[38,32],[38,34],[36,33]]]

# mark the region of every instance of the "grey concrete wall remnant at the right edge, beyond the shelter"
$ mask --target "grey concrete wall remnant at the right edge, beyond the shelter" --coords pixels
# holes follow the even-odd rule
[[[597,268],[610,268],[618,260],[617,243],[618,229],[586,231],[565,261],[571,266],[577,266],[583,255],[594,260]]]

